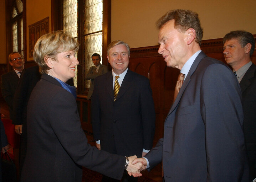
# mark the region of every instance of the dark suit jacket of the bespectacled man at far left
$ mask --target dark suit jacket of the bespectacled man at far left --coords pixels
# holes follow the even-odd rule
[[[13,113],[13,98],[19,82],[19,76],[17,73],[12,70],[8,73],[5,73],[1,76],[1,92],[4,100],[6,101],[9,111],[10,111],[10,119],[14,118]]]

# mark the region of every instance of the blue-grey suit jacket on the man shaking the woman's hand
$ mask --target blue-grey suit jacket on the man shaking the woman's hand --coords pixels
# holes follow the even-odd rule
[[[165,182],[248,182],[239,83],[201,52],[171,106],[160,139],[145,157],[163,159]]]

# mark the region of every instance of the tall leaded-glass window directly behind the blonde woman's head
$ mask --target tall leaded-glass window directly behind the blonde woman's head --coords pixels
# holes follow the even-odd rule
[[[78,15],[78,6],[82,12]],[[83,22],[82,32],[78,32],[78,16]],[[77,37],[82,44],[79,62],[82,72],[87,73],[93,65],[91,55],[98,53],[102,55],[102,23],[103,22],[103,1],[102,0],[63,0],[63,30]],[[80,36],[78,37],[78,34]],[[102,63],[102,60],[101,60]],[[82,76],[82,92],[89,87],[89,80]],[[74,85],[77,86],[77,71],[74,78]]]

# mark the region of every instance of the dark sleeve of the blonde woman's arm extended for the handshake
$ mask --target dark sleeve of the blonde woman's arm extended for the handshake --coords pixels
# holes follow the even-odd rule
[[[76,164],[112,178],[122,178],[125,157],[98,150],[87,143],[81,128],[76,100],[71,93],[65,90],[55,94],[48,113],[54,133]]]

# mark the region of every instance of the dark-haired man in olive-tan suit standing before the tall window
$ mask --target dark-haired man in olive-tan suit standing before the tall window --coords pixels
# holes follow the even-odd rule
[[[93,87],[94,87],[94,79],[99,76],[103,75],[108,72],[108,66],[101,64],[101,55],[94,53],[92,55],[92,62],[94,66],[91,66],[89,68],[88,73],[85,75],[86,80],[91,80],[90,82],[90,88],[88,91],[87,99],[89,100],[92,96]]]

